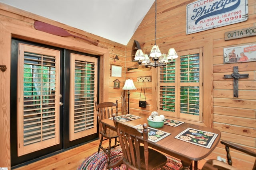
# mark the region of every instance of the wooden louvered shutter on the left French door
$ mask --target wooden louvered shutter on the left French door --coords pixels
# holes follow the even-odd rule
[[[19,44],[18,156],[59,143],[60,51]]]

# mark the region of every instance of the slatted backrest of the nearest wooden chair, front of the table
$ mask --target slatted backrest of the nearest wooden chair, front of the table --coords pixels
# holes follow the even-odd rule
[[[143,124],[143,129],[126,125],[117,121],[115,114],[112,115],[117,134],[124,155],[123,162],[131,169],[141,169],[141,153],[144,150],[145,169],[148,169],[148,125]],[[138,137],[143,137],[143,147],[140,147]],[[140,150],[143,149],[143,150]]]

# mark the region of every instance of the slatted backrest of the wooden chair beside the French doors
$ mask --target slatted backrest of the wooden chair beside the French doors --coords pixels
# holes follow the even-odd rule
[[[104,129],[104,131],[106,130],[105,127],[102,127],[102,123],[101,120],[102,119],[107,119],[112,117],[112,114],[114,113],[114,109],[116,109],[116,115],[118,115],[118,100],[116,100],[116,103],[114,102],[102,102],[97,104],[97,102],[95,102],[95,108],[97,111],[97,119],[98,119],[98,123],[100,126],[100,131],[102,129]]]

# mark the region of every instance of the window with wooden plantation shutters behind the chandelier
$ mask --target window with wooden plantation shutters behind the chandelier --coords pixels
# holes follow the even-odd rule
[[[202,121],[202,49],[181,51],[174,64],[159,70],[159,110],[164,115]]]

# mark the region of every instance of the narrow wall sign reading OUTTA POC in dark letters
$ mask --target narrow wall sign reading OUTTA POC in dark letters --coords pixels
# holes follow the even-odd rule
[[[225,40],[256,36],[256,27],[225,32]]]

